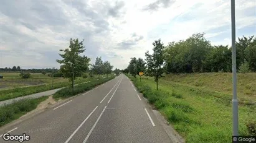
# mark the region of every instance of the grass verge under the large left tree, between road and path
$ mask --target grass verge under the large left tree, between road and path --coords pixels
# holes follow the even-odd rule
[[[115,78],[115,76],[111,76],[111,77],[105,77],[104,79],[93,80],[88,83],[76,85],[74,87],[74,89],[72,89],[72,87],[65,87],[64,89],[61,89],[61,90],[57,91],[56,93],[54,93],[53,98],[55,100],[58,100],[59,98],[69,98],[69,97],[77,95],[78,93],[83,93],[88,90],[91,90],[94,87],[96,87],[97,85],[103,84],[103,83],[107,82],[108,80],[111,80],[114,78]]]

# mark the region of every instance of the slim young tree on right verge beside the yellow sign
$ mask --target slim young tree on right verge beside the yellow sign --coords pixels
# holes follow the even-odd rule
[[[163,77],[162,74],[164,73],[164,44],[159,39],[154,41],[153,46],[153,54],[149,54],[149,51],[145,53],[146,64],[148,66],[147,72],[149,76],[154,76],[156,90],[158,90],[158,80]]]

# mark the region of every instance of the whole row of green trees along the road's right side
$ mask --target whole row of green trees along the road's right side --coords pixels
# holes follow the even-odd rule
[[[123,72],[130,72],[135,77],[140,71],[145,72],[146,76],[154,76],[157,89],[158,80],[164,72],[232,72],[231,47],[211,45],[204,35],[205,33],[196,33],[186,40],[170,42],[167,46],[160,39],[154,41],[153,54],[149,54],[149,51],[145,53],[146,64],[141,64],[141,58],[131,58]],[[239,38],[236,48],[238,71],[256,72],[256,37]]]

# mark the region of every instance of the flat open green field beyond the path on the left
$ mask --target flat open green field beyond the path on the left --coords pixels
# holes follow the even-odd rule
[[[9,88],[4,88],[0,90],[0,101],[8,100],[11,98],[22,97],[25,95],[30,95],[33,93],[44,92],[51,89],[58,89],[61,87],[67,87],[71,85],[69,79],[64,79],[62,77],[54,78],[54,84],[52,84],[52,78],[45,76],[40,73],[32,73],[31,78],[21,79],[19,73],[1,73],[4,79],[1,79],[0,85],[5,85]],[[106,75],[101,75],[100,77],[105,77]],[[75,84],[80,84],[87,82],[89,80],[95,80],[98,76],[88,77],[83,79],[82,77],[77,77],[75,79]],[[19,84],[17,84],[19,83]],[[40,83],[37,85],[27,85],[27,83]],[[53,85],[53,87],[52,87]]]

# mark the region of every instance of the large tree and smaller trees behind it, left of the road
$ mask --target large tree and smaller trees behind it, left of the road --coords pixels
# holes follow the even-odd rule
[[[70,38],[69,48],[64,50],[63,54],[59,54],[62,59],[57,59],[57,63],[62,64],[60,66],[60,72],[65,78],[69,78],[72,81],[72,88],[74,87],[75,77],[80,77],[83,72],[89,71],[89,66],[92,66],[90,71],[96,74],[110,74],[113,66],[108,61],[103,63],[102,58],[97,58],[95,64],[90,64],[90,58],[82,54],[85,52],[85,46],[83,46],[83,40]]]

